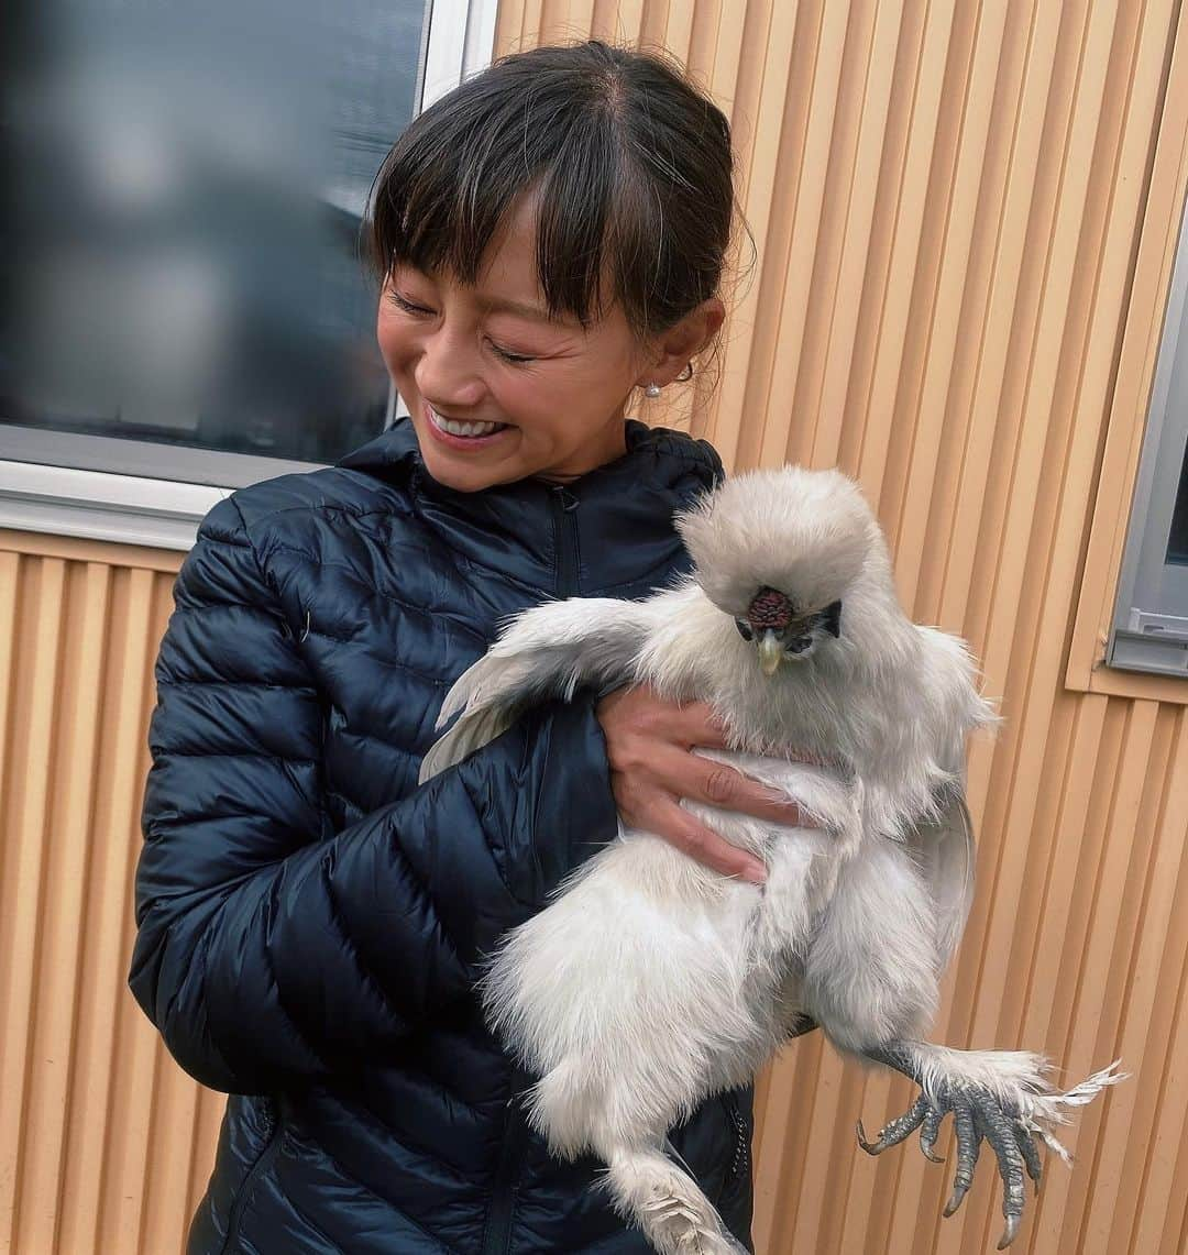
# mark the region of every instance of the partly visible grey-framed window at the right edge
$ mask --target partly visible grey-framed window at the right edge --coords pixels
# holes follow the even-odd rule
[[[1123,552],[1110,666],[1188,676],[1188,215]]]

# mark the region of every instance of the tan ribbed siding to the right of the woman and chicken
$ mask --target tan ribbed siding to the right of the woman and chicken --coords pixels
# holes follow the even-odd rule
[[[735,468],[854,474],[904,604],[1002,697],[997,744],[972,748],[979,894],[935,1035],[1137,1073],[1029,1199],[1015,1249],[1037,1255],[1170,1255],[1188,1224],[1184,707],[1064,686],[1179,21],[1175,0],[504,0],[496,38],[660,44],[726,110],[756,265],[716,392],[645,414]],[[859,1112],[877,1127],[907,1083],[817,1037],[760,1086],[759,1249],[991,1249],[992,1163],[942,1221],[951,1163],[854,1150]]]

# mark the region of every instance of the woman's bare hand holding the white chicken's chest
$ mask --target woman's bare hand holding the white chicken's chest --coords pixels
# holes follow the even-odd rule
[[[682,797],[777,823],[817,827],[783,793],[691,753],[694,745],[728,748],[706,703],[677,705],[647,685],[631,685],[605,697],[595,714],[606,738],[611,788],[623,822],[655,832],[706,867],[756,885],[766,877],[759,858],[700,823],[680,806]]]

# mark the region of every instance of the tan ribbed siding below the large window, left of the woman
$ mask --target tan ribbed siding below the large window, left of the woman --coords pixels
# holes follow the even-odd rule
[[[0,533],[0,1249],[19,1255],[181,1250],[222,1106],[125,986],[178,565],[112,562],[135,553]]]

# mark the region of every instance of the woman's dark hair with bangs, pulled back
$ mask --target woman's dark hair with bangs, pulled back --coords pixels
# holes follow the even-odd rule
[[[588,326],[617,299],[644,339],[718,291],[734,210],[730,124],[662,54],[595,39],[534,48],[443,97],[375,177],[371,264],[381,280],[408,264],[474,284],[529,190],[549,316]]]

